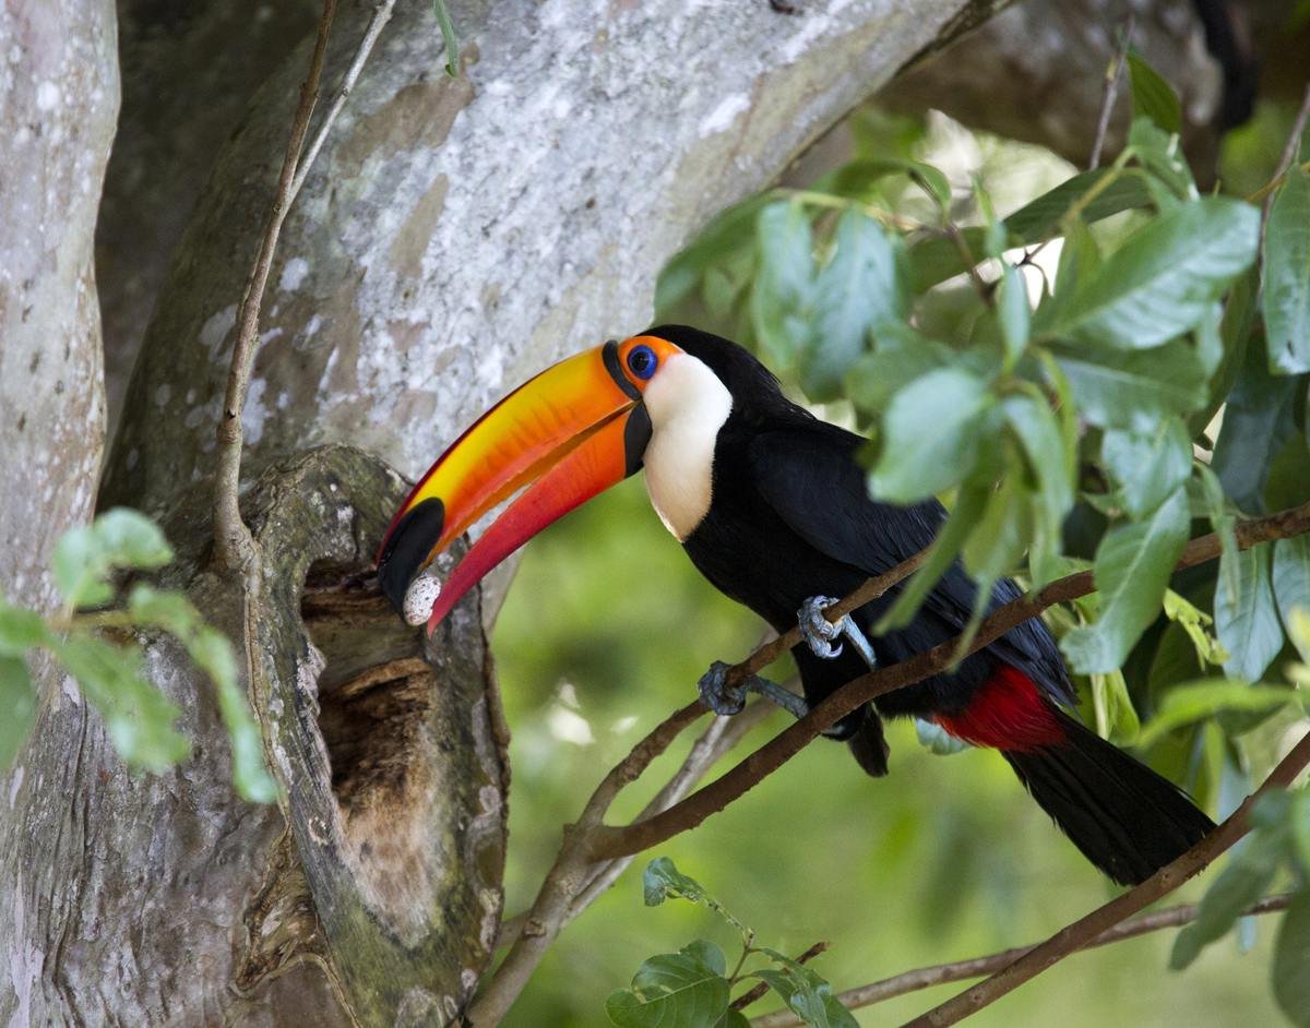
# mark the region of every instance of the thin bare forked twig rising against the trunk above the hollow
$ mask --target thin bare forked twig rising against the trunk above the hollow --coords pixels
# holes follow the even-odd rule
[[[246,394],[250,390],[250,375],[254,371],[254,358],[259,348],[259,309],[263,292],[272,270],[272,255],[278,249],[278,237],[295,203],[309,169],[322,149],[331,127],[346,106],[346,98],[354,89],[368,55],[392,17],[396,0],[379,0],[369,18],[364,37],[355,51],[355,58],[342,79],[337,98],[329,109],[318,132],[301,160],[305,136],[309,132],[309,119],[318,102],[318,85],[322,80],[324,60],[328,51],[328,37],[331,34],[337,14],[337,0],[324,0],[324,13],[318,21],[318,37],[314,52],[309,60],[309,75],[300,86],[300,105],[296,107],[291,126],[291,139],[282,158],[282,172],[278,175],[278,189],[269,207],[263,237],[254,267],[246,279],[245,293],[241,297],[241,310],[237,316],[237,340],[232,348],[232,364],[228,369],[228,386],[223,399],[223,415],[219,419],[217,475],[214,483],[214,534],[219,562],[225,567],[241,568],[249,572],[258,557],[254,538],[245,521],[241,520],[238,490],[241,483],[241,450],[245,445],[245,432],[241,427],[241,414],[245,410]]]

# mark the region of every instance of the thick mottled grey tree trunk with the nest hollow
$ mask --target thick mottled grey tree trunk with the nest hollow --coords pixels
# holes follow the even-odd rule
[[[127,775],[75,693],[47,686],[0,798],[0,959],[21,972],[0,1020],[453,1016],[500,904],[479,601],[421,648],[364,574],[400,481],[356,450],[291,454],[348,441],[413,477],[507,385],[643,327],[679,246],[965,7],[457,3],[451,80],[430,4],[402,0],[283,232],[245,418],[248,466],[267,469],[245,498],[265,564],[242,595],[210,564],[207,475],[307,67],[308,42],[292,48],[215,157],[102,494],[166,513],[168,580],[249,655],[286,798],[233,799],[208,689],[168,640],[144,640],[148,667],[195,740],[172,774]],[[343,0],[322,106],[372,9]]]

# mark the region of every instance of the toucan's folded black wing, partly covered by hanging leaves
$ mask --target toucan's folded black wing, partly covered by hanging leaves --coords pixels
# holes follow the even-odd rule
[[[855,460],[863,443],[852,432],[815,422],[760,433],[751,441],[748,460],[761,499],[793,532],[827,557],[874,576],[927,546],[945,511],[937,500],[910,507],[871,500],[865,470]],[[941,638],[933,643],[964,629],[976,592],[956,560],[933,587],[920,614],[938,625],[933,635]],[[1002,579],[992,588],[988,610],[1020,595],[1011,580]],[[1060,651],[1040,619],[1023,622],[988,648],[1051,695],[1073,702]]]

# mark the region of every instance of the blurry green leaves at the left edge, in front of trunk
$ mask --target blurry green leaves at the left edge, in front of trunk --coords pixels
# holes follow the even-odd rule
[[[130,767],[165,771],[190,752],[174,723],[177,706],[149,682],[136,633],[174,636],[214,681],[232,743],[232,780],[248,800],[270,803],[275,786],[263,765],[259,728],[246,705],[227,638],[207,625],[185,593],[136,581],[119,595],[118,572],[157,571],[173,559],[159,526],[118,507],[55,545],[55,584],[63,612],[43,618],[0,597],[0,769],[8,767],[35,723],[29,661],[46,651],[77,681],[105,719]],[[114,606],[115,600],[122,600]]]

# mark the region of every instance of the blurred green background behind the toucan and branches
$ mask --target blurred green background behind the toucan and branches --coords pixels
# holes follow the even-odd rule
[[[976,177],[1001,215],[1077,170],[1039,148],[979,136],[935,114],[913,122],[866,111],[859,119],[855,157],[876,143],[930,161],[964,198]],[[1288,122],[1282,110],[1263,110],[1230,138],[1225,175],[1237,178],[1238,190],[1264,181]],[[908,186],[875,199],[912,213],[921,202]],[[968,211],[959,220],[967,221]],[[1058,248],[1047,250],[1053,268]],[[732,261],[723,265],[731,276]],[[740,261],[736,274],[749,276],[749,262]],[[935,308],[945,320],[951,288]],[[696,323],[739,338],[745,331],[731,282],[706,282],[673,300],[673,313]],[[641,327],[616,323],[616,333]],[[821,413],[849,416],[840,406]],[[525,553],[493,639],[514,733],[507,915],[531,904],[561,825],[576,818],[604,771],[696,695],[710,661],[738,660],[760,640],[762,625],[710,588],[680,550],[638,477],[555,524]],[[779,674],[786,670],[774,669],[773,677]],[[745,745],[758,745],[782,724],[782,715],[773,715]],[[610,821],[639,809],[694,736],[688,732],[652,767],[648,784],[624,795]],[[693,938],[714,939],[731,963],[735,936],[714,917],[688,904],[642,905],[642,868],[659,855],[698,879],[762,944],[795,955],[828,942],[814,966],[838,991],[1039,940],[1112,894],[996,753],[933,756],[908,723],[889,727],[889,743],[886,779],[866,778],[845,746],[819,741],[697,830],[638,856],[563,931],[506,1024],[604,1025],[605,997],[626,986],[643,959]],[[1170,902],[1195,900],[1205,880]],[[1250,952],[1229,938],[1184,973],[1167,969],[1171,931],[1081,953],[971,1024],[1055,1018],[1062,1028],[1279,1024],[1268,980],[1272,927],[1247,932]],[[899,1024],[960,987],[916,993],[857,1018]],[[770,997],[747,1012],[777,1006]]]

